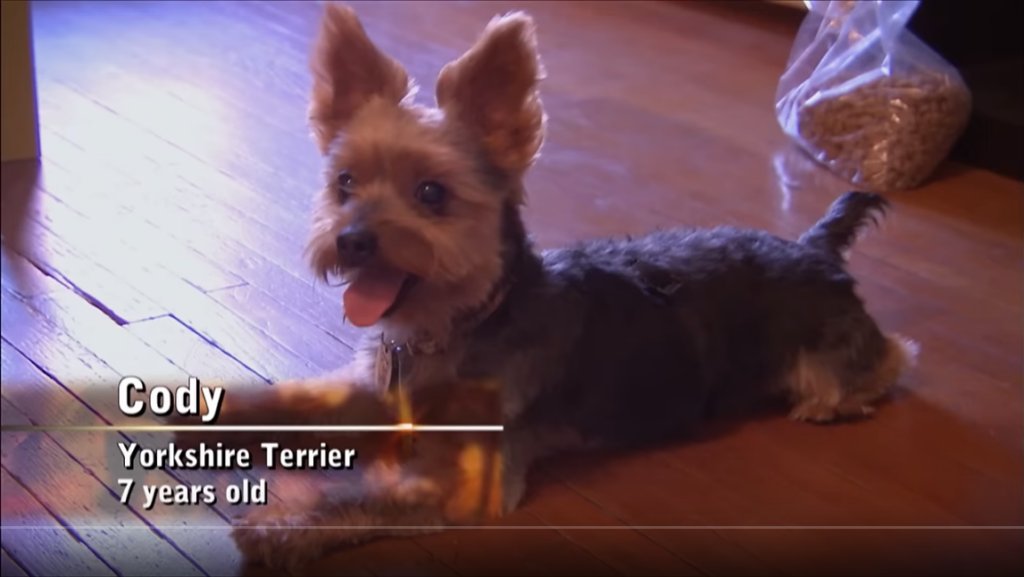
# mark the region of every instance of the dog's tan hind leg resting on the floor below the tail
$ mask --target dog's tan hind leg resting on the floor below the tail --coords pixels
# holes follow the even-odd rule
[[[851,333],[835,345],[801,351],[786,378],[795,407],[791,418],[829,422],[863,417],[916,358],[918,345],[898,335],[884,335],[866,314],[865,330]]]

